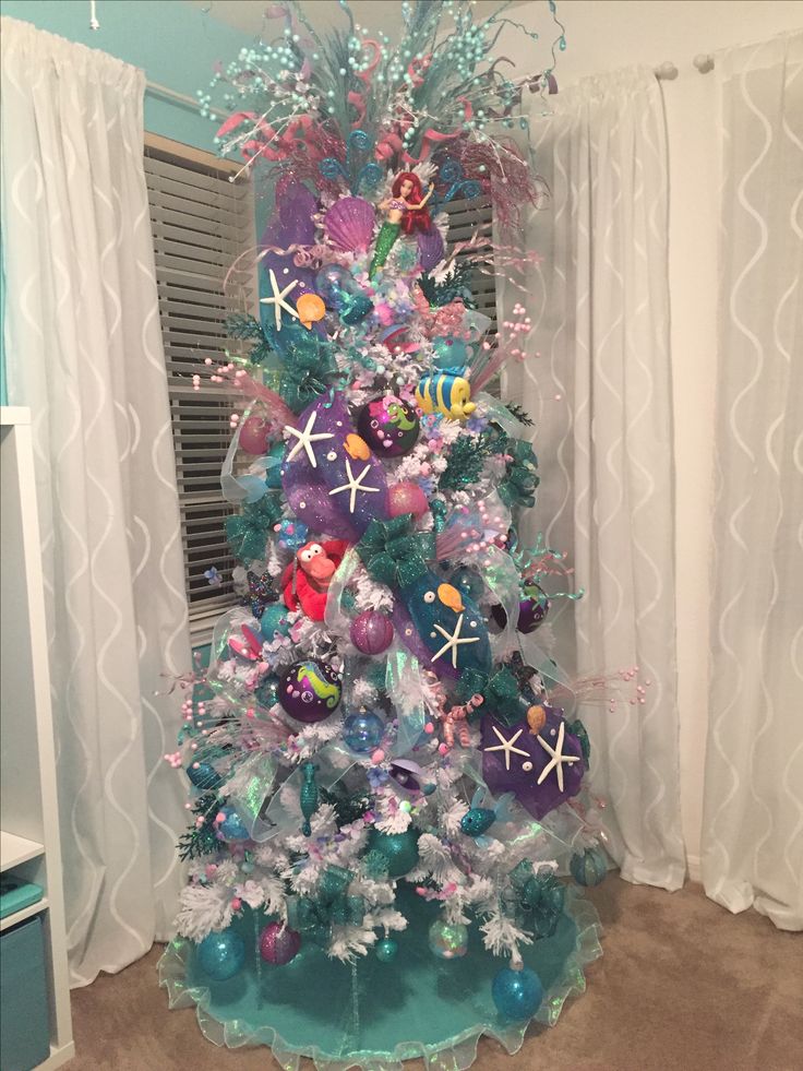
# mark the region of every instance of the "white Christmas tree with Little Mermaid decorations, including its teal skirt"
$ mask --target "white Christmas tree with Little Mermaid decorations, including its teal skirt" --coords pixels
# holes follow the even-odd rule
[[[531,318],[523,293],[491,330],[472,300],[531,259],[544,189],[511,128],[554,81],[503,75],[502,14],[405,3],[391,46],[341,7],[325,38],[283,8],[202,98],[272,215],[229,279],[259,264],[262,319],[232,316],[240,353],[199,372],[242,398],[242,605],[168,757],[193,820],[163,981],[283,1067],[466,1068],[482,1033],[554,1023],[599,954],[590,746],[536,639],[561,555],[519,538],[535,429],[492,393]],[[450,240],[457,198],[490,202],[493,240]]]

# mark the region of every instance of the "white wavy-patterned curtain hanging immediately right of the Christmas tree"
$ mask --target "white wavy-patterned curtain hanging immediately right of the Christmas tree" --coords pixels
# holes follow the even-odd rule
[[[528,245],[542,355],[519,373],[536,416],[542,486],[536,527],[574,558],[576,671],[638,666],[614,713],[585,705],[591,784],[609,850],[630,881],[678,889],[685,858],[679,788],[673,583],[672,393],[667,144],[646,68],[585,79],[531,116],[552,188]],[[511,294],[505,300],[516,297]],[[567,632],[571,614],[556,628]],[[560,658],[562,647],[558,645]]]

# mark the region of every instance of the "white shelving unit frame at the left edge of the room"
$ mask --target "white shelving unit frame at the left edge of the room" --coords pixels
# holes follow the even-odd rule
[[[0,407],[0,869],[45,890],[44,899],[0,920],[0,929],[40,915],[50,1001],[50,1057],[74,1055],[64,937],[45,596],[28,409]]]

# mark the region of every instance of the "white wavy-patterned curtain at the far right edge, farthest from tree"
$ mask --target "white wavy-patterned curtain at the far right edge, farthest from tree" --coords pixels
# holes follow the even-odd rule
[[[717,501],[703,877],[803,929],[803,33],[717,56]]]

